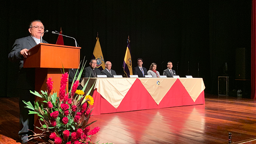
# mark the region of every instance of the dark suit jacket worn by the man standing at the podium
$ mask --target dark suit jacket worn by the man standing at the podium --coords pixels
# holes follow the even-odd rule
[[[43,40],[43,43],[47,42]],[[29,50],[34,46],[36,46],[36,42],[31,36],[16,39],[12,46],[12,50],[8,55],[10,61],[19,61],[20,63],[17,88],[30,90],[34,90],[35,88],[35,68],[23,68],[24,57],[20,55],[21,50],[25,48]]]

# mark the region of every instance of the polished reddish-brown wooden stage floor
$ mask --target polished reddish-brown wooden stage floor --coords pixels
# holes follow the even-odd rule
[[[0,98],[0,144],[16,143],[17,97]],[[226,144],[256,139],[256,100],[205,95],[205,104],[91,116],[101,127],[94,142],[114,144]],[[256,141],[256,140],[255,140]],[[250,142],[251,144],[256,143]]]

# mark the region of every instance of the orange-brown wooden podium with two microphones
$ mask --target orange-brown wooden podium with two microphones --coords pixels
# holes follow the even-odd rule
[[[24,68],[35,68],[35,91],[47,91],[46,80],[52,77],[53,92],[59,92],[61,85],[61,76],[63,72],[62,64],[65,72],[69,68],[79,68],[81,47],[71,47],[65,45],[54,45],[40,43],[27,51],[28,56],[24,59]],[[68,86],[68,85],[67,85]],[[37,100],[35,96],[35,100]],[[41,127],[38,116],[35,115],[34,124]],[[34,128],[34,132],[40,130]]]

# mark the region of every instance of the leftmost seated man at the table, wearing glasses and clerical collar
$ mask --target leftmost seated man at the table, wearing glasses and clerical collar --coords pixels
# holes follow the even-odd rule
[[[101,70],[96,68],[97,61],[95,59],[92,59],[90,61],[90,66],[87,68],[84,68],[82,77],[83,78],[97,78],[97,75],[101,75]]]

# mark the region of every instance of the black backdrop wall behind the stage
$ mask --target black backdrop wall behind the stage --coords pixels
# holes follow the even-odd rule
[[[90,60],[97,32],[105,61],[111,61],[117,74],[123,74],[122,63],[130,36],[132,65],[143,58],[149,69],[158,64],[162,74],[167,61],[185,77],[204,79],[205,92],[217,94],[217,77],[235,76],[235,48],[250,49],[251,1],[220,0],[147,0],[147,1],[1,1],[1,96],[13,96],[18,64],[9,62],[8,53],[17,38],[29,35],[28,24],[43,21],[48,33],[44,40],[56,43],[62,27],[64,35],[76,38],[81,60]],[[64,44],[74,40],[64,37]],[[250,53],[248,54],[250,56]],[[188,72],[189,62],[189,72]],[[87,66],[89,63],[87,62]],[[59,82],[55,82],[59,83]]]

